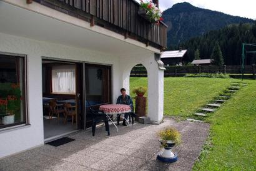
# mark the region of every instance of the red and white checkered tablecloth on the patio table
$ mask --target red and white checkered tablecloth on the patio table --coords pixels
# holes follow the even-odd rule
[[[99,110],[103,110],[105,114],[122,114],[130,112],[130,106],[126,104],[105,104],[99,107]]]

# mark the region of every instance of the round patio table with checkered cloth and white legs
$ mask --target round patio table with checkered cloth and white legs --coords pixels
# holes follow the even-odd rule
[[[99,107],[99,110],[104,111],[104,114],[107,115],[109,120],[111,120],[112,124],[114,124],[114,126],[116,127],[117,132],[118,132],[118,128],[117,128],[116,124],[113,122],[114,119],[112,120],[111,117],[109,117],[109,115],[116,115],[116,117],[118,117],[121,114],[126,114],[131,111],[130,106],[126,105],[126,104],[105,104],[105,105],[101,105]],[[125,117],[124,117],[124,119],[129,124],[128,120]]]

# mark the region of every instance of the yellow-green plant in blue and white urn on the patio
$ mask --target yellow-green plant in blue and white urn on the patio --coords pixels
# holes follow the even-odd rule
[[[171,149],[175,144],[180,143],[180,133],[174,127],[167,127],[158,132],[159,142],[164,147],[164,152],[157,155],[157,159],[162,162],[176,162],[178,160],[177,154],[174,154]]]

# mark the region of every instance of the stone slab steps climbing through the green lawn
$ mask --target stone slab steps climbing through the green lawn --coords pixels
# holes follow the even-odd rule
[[[200,109],[195,112],[195,116],[202,118],[207,117],[208,115],[214,113],[219,107],[222,106],[227,100],[232,98],[232,96],[243,86],[246,86],[245,83],[240,82],[232,82],[231,85],[225,89],[218,97],[215,97],[215,99],[210,100],[209,104],[204,105]],[[196,120],[196,119],[187,119],[192,122],[202,122],[202,120]]]

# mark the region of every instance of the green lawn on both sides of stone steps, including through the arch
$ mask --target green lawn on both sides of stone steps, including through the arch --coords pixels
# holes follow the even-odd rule
[[[132,86],[145,85],[145,78],[131,78]],[[192,115],[195,109],[218,95],[234,79],[165,78],[165,115]],[[206,119],[210,137],[194,170],[256,170],[256,81]]]

